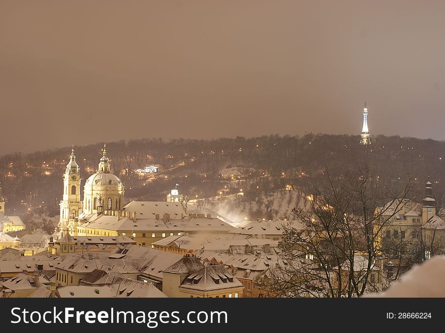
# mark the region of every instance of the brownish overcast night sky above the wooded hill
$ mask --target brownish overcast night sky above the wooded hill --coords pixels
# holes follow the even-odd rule
[[[0,0],[0,155],[143,137],[445,139],[444,1]]]

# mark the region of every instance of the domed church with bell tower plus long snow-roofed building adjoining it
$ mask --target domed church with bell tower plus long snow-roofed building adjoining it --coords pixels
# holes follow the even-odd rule
[[[124,186],[110,171],[105,145],[97,172],[83,186],[83,201],[79,171],[73,149],[63,179],[58,224],[59,237],[68,252],[74,251],[76,243],[82,240],[93,242],[93,237],[98,239],[97,246],[105,242],[104,237],[116,242],[120,236],[129,237],[140,246],[153,246],[170,236],[235,231],[233,226],[210,214],[189,213],[187,202],[177,190],[178,184],[166,201],[131,201],[124,206]]]

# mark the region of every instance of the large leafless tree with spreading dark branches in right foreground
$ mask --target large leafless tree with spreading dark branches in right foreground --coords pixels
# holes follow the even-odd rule
[[[410,195],[411,177],[390,188],[367,168],[336,180],[325,174],[323,186],[306,191],[309,209],[292,210],[304,230],[283,224],[282,262],[261,282],[271,296],[358,297],[389,282],[382,233]]]

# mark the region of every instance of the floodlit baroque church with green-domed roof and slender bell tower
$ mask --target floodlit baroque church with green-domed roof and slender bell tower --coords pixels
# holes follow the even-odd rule
[[[63,178],[59,237],[63,237],[67,232],[75,235],[77,226],[103,213],[104,210],[122,210],[124,186],[121,180],[111,173],[105,145],[97,172],[91,175],[83,186],[83,202],[80,201],[80,181],[80,168],[76,163],[73,147]]]

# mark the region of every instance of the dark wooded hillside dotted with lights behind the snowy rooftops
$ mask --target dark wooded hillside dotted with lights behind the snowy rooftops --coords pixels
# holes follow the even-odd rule
[[[235,202],[241,207],[237,210],[249,218],[279,218],[288,214],[288,200],[296,202],[288,198],[295,192],[283,192],[285,188],[305,192],[325,176],[326,170],[331,177],[340,178],[348,169],[364,165],[381,184],[402,182],[411,173],[417,185],[413,197],[417,199],[423,196],[424,183],[431,175],[434,195],[442,197],[445,142],[383,135],[372,137],[372,141],[366,149],[358,144],[358,135],[156,138],[107,142],[107,152],[114,173],[125,185],[126,202],[164,200],[177,183],[189,200],[225,198],[224,205],[230,210],[234,204],[230,198],[242,193],[242,201]],[[97,168],[103,143],[74,148],[83,184]],[[57,215],[62,174],[70,152],[71,148],[65,147],[2,156],[0,180],[7,213]],[[160,172],[135,171],[149,165],[159,166]],[[268,205],[271,196],[275,196],[272,206]]]

